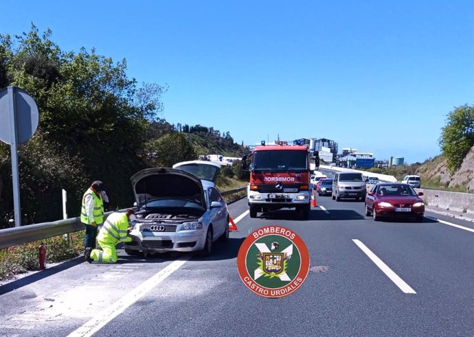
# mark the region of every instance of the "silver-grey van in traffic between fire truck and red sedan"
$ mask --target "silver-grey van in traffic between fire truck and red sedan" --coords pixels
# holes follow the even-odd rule
[[[332,180],[332,200],[340,201],[341,198],[356,198],[363,200],[367,189],[365,180],[359,172],[338,172]]]

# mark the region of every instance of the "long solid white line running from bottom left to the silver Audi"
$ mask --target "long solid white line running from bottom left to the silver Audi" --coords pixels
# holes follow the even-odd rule
[[[144,297],[144,295],[159,285],[162,281],[164,281],[168,276],[170,276],[173,272],[181,268],[183,264],[188,262],[188,260],[192,257],[192,255],[188,255],[183,257],[182,259],[176,260],[172,262],[170,265],[163,268],[157,274],[150,277],[150,279],[144,281],[144,283],[140,284],[126,294],[122,299],[113,303],[109,307],[107,307],[104,311],[100,312],[99,315],[91,318],[90,321],[84,323],[82,327],[79,327],[74,332],[68,335],[68,337],[77,337],[77,336],[92,336],[95,332],[98,332],[102,327],[104,327],[107,323],[113,320],[113,318],[117,317],[118,315],[122,314],[126,310],[126,308],[130,307]]]

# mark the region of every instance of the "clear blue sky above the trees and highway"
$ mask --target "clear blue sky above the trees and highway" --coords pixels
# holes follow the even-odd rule
[[[474,1],[0,0],[0,34],[125,58],[168,84],[161,117],[262,139],[333,139],[424,161],[474,103]],[[5,13],[8,9],[8,14]]]

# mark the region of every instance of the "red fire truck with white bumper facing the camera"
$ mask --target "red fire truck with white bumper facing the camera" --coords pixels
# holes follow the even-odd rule
[[[281,144],[281,142],[280,142]],[[306,146],[257,146],[242,158],[250,171],[247,188],[250,217],[258,212],[294,208],[308,219],[311,208],[309,153]]]

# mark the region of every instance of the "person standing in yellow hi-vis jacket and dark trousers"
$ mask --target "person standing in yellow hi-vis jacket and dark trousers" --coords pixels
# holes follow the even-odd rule
[[[95,248],[98,226],[104,222],[104,201],[101,192],[104,191],[102,181],[94,181],[82,196],[82,209],[80,211],[80,222],[86,228],[84,237],[84,256],[87,248]]]

